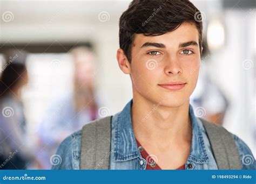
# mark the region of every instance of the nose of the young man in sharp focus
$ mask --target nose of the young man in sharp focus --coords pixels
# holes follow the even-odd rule
[[[178,59],[171,59],[169,58],[167,61],[166,61],[166,66],[164,68],[164,72],[166,75],[177,75],[177,74],[181,74],[183,72],[181,66],[180,66],[180,63],[179,63],[179,60]]]

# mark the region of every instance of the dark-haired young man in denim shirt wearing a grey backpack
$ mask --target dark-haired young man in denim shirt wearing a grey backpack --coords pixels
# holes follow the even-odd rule
[[[255,169],[241,139],[197,118],[190,105],[202,29],[187,0],[131,2],[120,17],[117,60],[133,99],[66,138],[53,169]]]

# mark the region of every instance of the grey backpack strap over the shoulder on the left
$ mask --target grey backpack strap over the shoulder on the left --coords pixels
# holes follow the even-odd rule
[[[109,169],[111,116],[83,126],[80,169]]]

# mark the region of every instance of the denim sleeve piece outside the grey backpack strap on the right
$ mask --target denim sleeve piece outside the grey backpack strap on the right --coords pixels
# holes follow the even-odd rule
[[[238,136],[234,134],[232,136],[240,154],[242,169],[256,169],[256,161],[250,148]]]

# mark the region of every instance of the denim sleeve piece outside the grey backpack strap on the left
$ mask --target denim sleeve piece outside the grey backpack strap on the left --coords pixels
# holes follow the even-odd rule
[[[79,169],[82,130],[72,133],[60,143],[50,161],[52,169]]]

